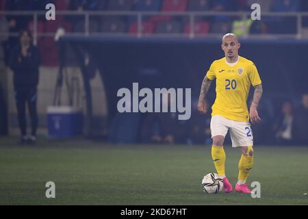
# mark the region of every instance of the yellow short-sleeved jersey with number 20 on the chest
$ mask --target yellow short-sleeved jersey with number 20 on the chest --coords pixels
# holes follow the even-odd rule
[[[223,57],[211,64],[207,78],[216,79],[216,99],[211,107],[211,115],[248,122],[247,98],[250,87],[261,84],[255,64],[240,56],[238,62],[229,64]]]

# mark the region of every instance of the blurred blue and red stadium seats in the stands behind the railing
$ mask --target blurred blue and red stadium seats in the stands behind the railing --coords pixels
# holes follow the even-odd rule
[[[1,10],[29,10],[33,5],[36,10],[40,10],[45,3],[55,3],[57,10],[77,10],[79,5],[84,6],[84,10],[108,10],[108,11],[136,11],[136,12],[200,12],[214,10],[217,12],[233,10],[250,10],[248,5],[261,3],[263,12],[296,12],[304,7],[304,1],[300,0],[0,0]],[[32,6],[31,6],[32,5]],[[304,8],[301,8],[303,5]],[[308,5],[306,3],[306,5]],[[1,17],[0,17],[1,18]],[[235,17],[230,16],[195,16],[194,34],[221,34],[232,31],[232,23]],[[241,18],[239,18],[241,19]],[[264,16],[262,22],[253,23],[250,28],[251,34],[294,34],[296,33],[296,19]],[[29,21],[29,22],[28,22]],[[33,17],[19,19],[21,27],[28,27],[34,31]],[[23,25],[27,23],[27,25]],[[57,16],[56,21],[44,21],[44,16],[38,16],[38,34],[54,33],[61,26],[66,31],[84,34],[84,15]],[[307,27],[308,18],[303,18],[303,27]],[[99,16],[90,15],[90,33],[126,33],[136,34],[138,32],[137,16]],[[15,32],[19,31],[16,27]],[[12,30],[11,30],[12,31]],[[142,34],[180,34],[190,33],[190,16],[142,16]],[[38,38],[38,46],[42,51],[48,49],[49,44],[53,44],[50,39]],[[47,55],[54,54],[54,51]],[[42,55],[46,55],[43,53]],[[55,64],[55,60],[44,63]]]

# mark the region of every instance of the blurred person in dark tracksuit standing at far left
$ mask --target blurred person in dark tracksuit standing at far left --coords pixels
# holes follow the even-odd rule
[[[18,112],[18,123],[21,129],[21,143],[34,144],[36,142],[36,128],[38,116],[36,112],[38,67],[40,55],[32,44],[31,33],[23,30],[19,36],[19,43],[10,53],[9,66],[14,72],[14,92]],[[26,105],[31,118],[31,135],[27,136],[25,118]]]

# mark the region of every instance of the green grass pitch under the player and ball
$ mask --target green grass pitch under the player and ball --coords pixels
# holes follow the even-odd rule
[[[240,151],[225,146],[231,183]],[[308,146],[255,146],[248,179],[261,198],[204,194],[214,171],[210,146],[110,145],[88,140],[39,140],[17,146],[0,138],[1,205],[308,205]],[[45,183],[55,182],[55,198]]]

